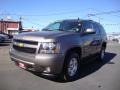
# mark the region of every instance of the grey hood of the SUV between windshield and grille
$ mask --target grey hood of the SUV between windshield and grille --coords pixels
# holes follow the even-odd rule
[[[27,32],[14,36],[14,39],[32,40],[32,41],[51,41],[61,36],[74,34],[75,32],[65,31],[40,31],[40,32]]]

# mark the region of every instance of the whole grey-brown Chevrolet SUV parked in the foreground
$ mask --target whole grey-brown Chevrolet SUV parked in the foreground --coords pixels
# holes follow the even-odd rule
[[[10,57],[23,69],[72,80],[88,57],[104,60],[107,37],[92,20],[68,19],[49,24],[40,32],[14,36]]]

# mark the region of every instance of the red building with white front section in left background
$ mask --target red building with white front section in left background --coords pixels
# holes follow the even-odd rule
[[[0,32],[14,35],[18,34],[19,31],[22,30],[21,21],[13,21],[13,20],[0,20]]]

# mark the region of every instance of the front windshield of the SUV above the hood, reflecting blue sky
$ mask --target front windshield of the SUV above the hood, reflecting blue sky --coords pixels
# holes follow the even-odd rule
[[[79,31],[81,24],[78,22],[54,22],[44,28],[42,31]]]

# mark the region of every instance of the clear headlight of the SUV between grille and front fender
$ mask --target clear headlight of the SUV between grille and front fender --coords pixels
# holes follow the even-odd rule
[[[43,54],[51,54],[51,53],[59,53],[59,45],[54,42],[43,42],[40,43],[40,48],[38,53],[43,53]]]

